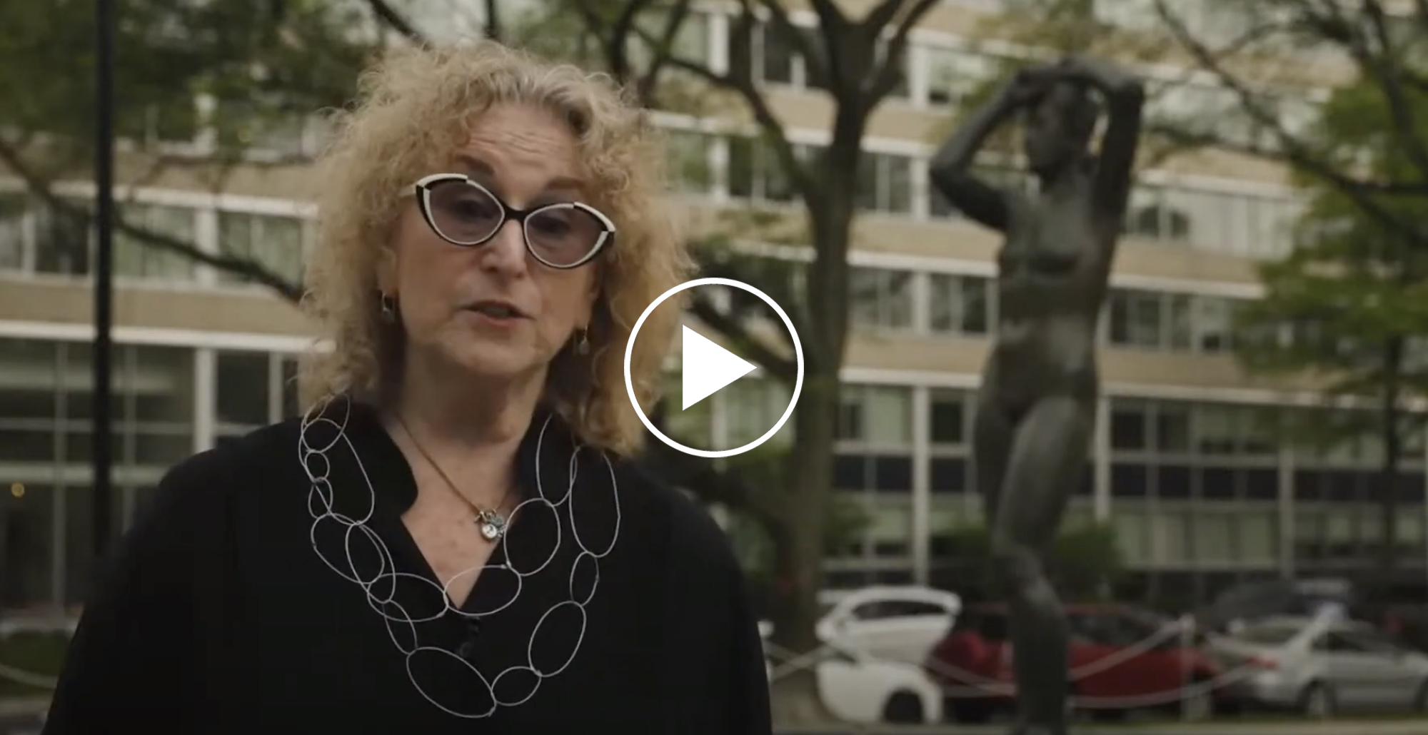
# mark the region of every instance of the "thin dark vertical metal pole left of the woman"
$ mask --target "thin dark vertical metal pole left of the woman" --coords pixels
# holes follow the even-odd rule
[[[93,518],[94,555],[103,558],[113,527],[113,387],[110,385],[114,314],[114,0],[96,0],[94,26],[94,407]],[[99,567],[96,565],[96,569]]]

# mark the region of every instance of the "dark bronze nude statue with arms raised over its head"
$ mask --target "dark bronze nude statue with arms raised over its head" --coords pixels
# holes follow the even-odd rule
[[[1088,150],[1105,100],[1098,156]],[[1075,491],[1095,425],[1095,333],[1131,188],[1145,93],[1110,64],[1067,59],[1024,69],[937,153],[934,186],[967,217],[1005,234],[997,337],[972,430],[977,488],[1007,585],[1022,735],[1062,735],[1065,615],[1042,554]],[[1024,113],[1034,194],[971,174],[982,141]]]

